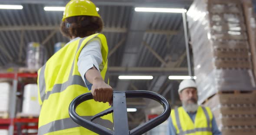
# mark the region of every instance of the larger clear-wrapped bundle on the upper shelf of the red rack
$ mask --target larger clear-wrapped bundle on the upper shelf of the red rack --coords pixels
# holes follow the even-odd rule
[[[46,62],[46,49],[37,42],[30,42],[27,47],[27,67],[39,69]]]

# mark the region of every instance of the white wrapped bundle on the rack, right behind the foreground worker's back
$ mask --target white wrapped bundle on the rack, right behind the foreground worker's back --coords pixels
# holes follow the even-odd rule
[[[24,87],[22,113],[31,115],[40,114],[37,84],[27,84]]]

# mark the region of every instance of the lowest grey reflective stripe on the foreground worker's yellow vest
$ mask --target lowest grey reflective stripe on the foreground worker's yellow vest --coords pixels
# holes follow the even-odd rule
[[[90,120],[92,116],[82,116],[84,119]],[[93,121],[96,124],[102,125],[108,129],[113,129],[113,123],[109,120],[97,118]],[[46,125],[42,125],[38,129],[38,135],[44,135],[49,132],[55,132],[63,129],[70,129],[70,128],[76,128],[80,125],[77,125],[75,122],[72,121],[71,118],[66,119],[60,119],[53,122],[50,122]]]

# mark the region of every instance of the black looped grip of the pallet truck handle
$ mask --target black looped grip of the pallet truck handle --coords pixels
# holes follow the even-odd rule
[[[164,107],[164,112],[161,113],[158,117],[151,119],[148,122],[145,122],[142,125],[139,125],[137,128],[132,129],[129,131],[129,135],[142,135],[145,132],[153,129],[154,127],[160,125],[162,122],[168,119],[168,117],[171,114],[171,107],[168,101],[158,93],[154,93],[152,91],[145,91],[145,90],[135,90],[135,91],[114,91],[114,93],[125,93],[126,98],[148,98],[157,101]],[[114,135],[114,132],[103,127],[102,125],[95,124],[93,122],[90,122],[89,120],[86,120],[79,116],[75,112],[75,108],[82,102],[86,100],[92,100],[92,93],[85,93],[80,96],[77,96],[69,106],[69,116],[70,118],[77,123],[78,125],[81,125],[82,127],[85,127],[86,129],[89,129],[95,133],[98,133],[100,135]],[[115,113],[115,110],[114,110]]]

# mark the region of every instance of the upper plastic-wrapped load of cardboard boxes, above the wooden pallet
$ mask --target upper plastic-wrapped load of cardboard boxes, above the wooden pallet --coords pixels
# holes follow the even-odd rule
[[[187,12],[199,103],[218,91],[255,90],[240,0],[195,0]]]

